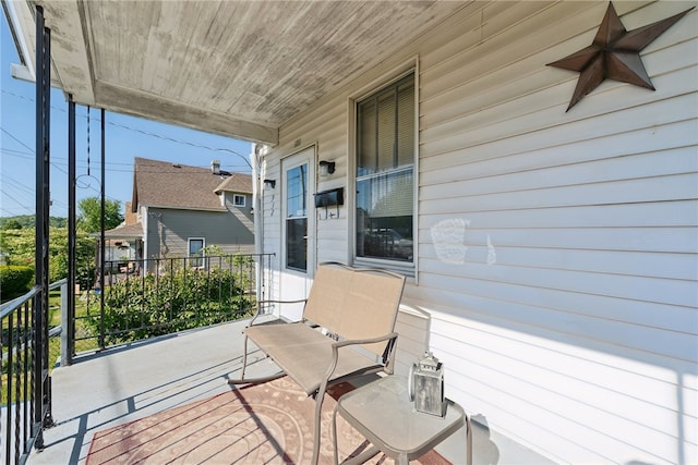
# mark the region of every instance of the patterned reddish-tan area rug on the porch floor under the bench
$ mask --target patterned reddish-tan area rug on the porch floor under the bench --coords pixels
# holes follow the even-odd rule
[[[337,384],[323,404],[321,464],[334,463],[332,413],[335,399],[351,390]],[[97,431],[87,465],[99,464],[306,464],[313,454],[315,402],[281,378]],[[369,444],[337,419],[339,460]],[[392,463],[383,454],[372,464]],[[419,462],[447,463],[435,453]]]

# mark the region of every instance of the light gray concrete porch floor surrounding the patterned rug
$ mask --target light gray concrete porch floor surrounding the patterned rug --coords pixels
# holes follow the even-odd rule
[[[240,368],[246,320],[128,344],[79,357],[52,372],[56,426],[29,465],[84,464],[96,431],[206,399],[231,388]],[[275,369],[258,353],[249,376]],[[467,411],[467,406],[466,411]],[[473,418],[477,420],[477,417]],[[465,431],[444,443],[446,458],[465,461]],[[473,421],[473,464],[547,464],[544,457]]]

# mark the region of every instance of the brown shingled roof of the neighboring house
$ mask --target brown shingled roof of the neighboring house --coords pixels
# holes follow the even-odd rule
[[[252,193],[252,176],[213,174],[210,169],[136,157],[132,205],[225,211],[218,193]]]

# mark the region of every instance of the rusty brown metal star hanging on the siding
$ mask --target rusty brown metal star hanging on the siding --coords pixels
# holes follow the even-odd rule
[[[654,90],[654,86],[640,59],[640,50],[661,36],[693,8],[683,13],[633,30],[625,30],[613,3],[609,3],[606,14],[599,26],[593,42],[576,53],[547,63],[549,66],[578,71],[579,81],[571,97],[569,111],[587,94],[595,89],[604,79],[615,79]]]

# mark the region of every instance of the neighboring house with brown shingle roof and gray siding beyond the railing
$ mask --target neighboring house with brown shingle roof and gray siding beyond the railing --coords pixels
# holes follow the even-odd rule
[[[136,258],[186,257],[204,247],[253,253],[252,176],[135,158],[133,198],[125,224],[107,232],[131,237],[140,230]]]

